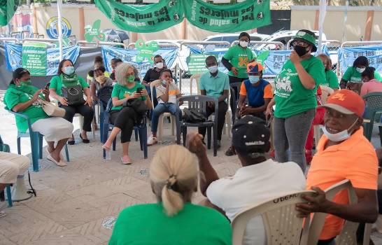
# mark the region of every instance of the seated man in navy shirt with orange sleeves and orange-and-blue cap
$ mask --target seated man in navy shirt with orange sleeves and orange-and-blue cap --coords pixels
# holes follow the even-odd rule
[[[262,64],[250,62],[247,64],[248,79],[243,80],[240,87],[239,115],[238,117],[252,115],[265,120],[265,111],[271,99],[274,97],[271,84],[262,79]],[[246,100],[248,99],[248,103]],[[234,155],[231,147],[225,155]]]

